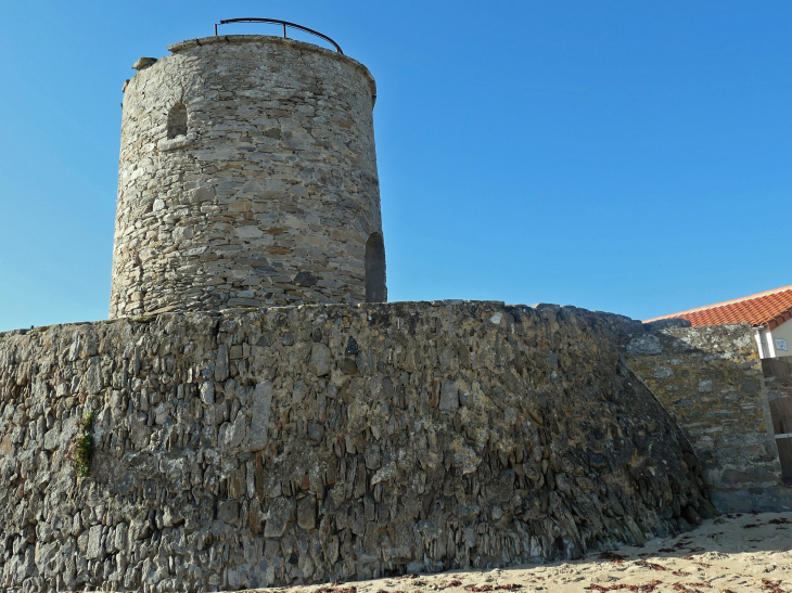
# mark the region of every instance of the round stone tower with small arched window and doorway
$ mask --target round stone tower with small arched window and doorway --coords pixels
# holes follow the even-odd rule
[[[110,317],[385,301],[369,70],[268,36],[168,50],[125,87]]]

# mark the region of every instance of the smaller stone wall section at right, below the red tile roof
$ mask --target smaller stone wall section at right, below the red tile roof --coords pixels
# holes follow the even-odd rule
[[[792,510],[751,326],[689,325],[647,324],[625,362],[685,430],[719,511]]]

